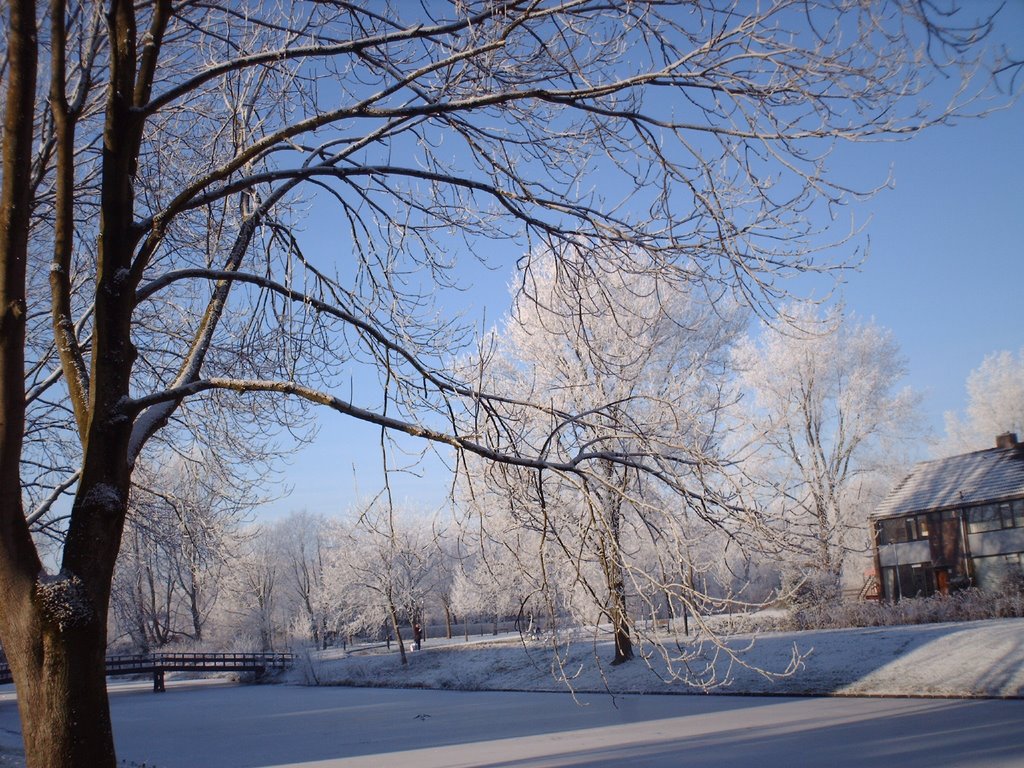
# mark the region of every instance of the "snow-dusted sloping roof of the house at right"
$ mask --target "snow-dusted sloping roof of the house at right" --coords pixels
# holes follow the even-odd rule
[[[1024,443],[914,465],[872,517],[894,517],[1024,496]]]

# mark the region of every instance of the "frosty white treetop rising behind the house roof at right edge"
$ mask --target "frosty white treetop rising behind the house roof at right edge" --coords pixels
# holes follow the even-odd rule
[[[1024,347],[992,352],[967,377],[964,415],[947,412],[942,456],[991,447],[996,435],[1024,436]]]

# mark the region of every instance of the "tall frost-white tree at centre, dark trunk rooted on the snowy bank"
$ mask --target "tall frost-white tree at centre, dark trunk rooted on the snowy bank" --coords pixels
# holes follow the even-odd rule
[[[607,272],[602,261],[569,245],[535,256],[521,276],[481,379],[547,400],[550,416],[507,409],[496,434],[532,445],[551,468],[535,477],[497,466],[482,476],[511,519],[550,537],[561,558],[588,563],[577,586],[611,624],[621,664],[633,656],[629,596],[663,583],[633,556],[638,542],[656,540],[678,575],[688,520],[727,526],[736,517],[736,500],[717,484],[716,427],[743,315],[653,276],[639,252],[620,253]],[[584,476],[567,471],[581,455],[593,464]]]

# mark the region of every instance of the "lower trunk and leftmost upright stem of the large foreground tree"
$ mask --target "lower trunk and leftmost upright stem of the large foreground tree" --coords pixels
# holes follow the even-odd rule
[[[12,0],[7,18],[0,199],[0,636],[17,689],[29,765],[114,768],[103,666],[110,579],[105,579],[105,589],[103,578],[69,577],[74,570],[41,580],[42,564],[22,507],[28,185],[37,71],[35,3]],[[98,544],[101,557],[109,549],[105,542]],[[111,571],[113,565],[112,560]],[[90,586],[100,589],[90,590]]]

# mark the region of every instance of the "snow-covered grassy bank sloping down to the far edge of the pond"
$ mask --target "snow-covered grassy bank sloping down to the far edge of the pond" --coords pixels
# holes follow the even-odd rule
[[[730,638],[745,647],[751,638]],[[792,675],[768,678],[757,670],[782,672],[794,648],[802,655]],[[654,656],[610,667],[610,642],[571,646],[562,670],[577,691],[686,693],[666,683],[664,662]],[[497,641],[428,640],[398,664],[398,653],[328,651],[300,664],[292,682],[324,685],[438,688],[451,690],[564,691],[553,674],[551,648],[518,636]],[[717,688],[724,693],[890,696],[1024,696],[1024,620],[870,627],[759,635],[741,654],[743,664],[720,660]],[[697,666],[691,665],[694,670]]]

